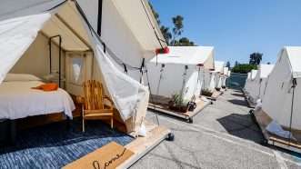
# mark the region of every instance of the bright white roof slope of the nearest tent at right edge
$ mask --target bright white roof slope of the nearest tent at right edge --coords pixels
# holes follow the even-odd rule
[[[294,78],[301,77],[301,46],[286,46],[283,50],[288,55]]]

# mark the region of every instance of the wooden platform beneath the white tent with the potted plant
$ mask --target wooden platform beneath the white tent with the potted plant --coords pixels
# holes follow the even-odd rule
[[[160,104],[152,104],[149,103],[148,104],[148,109],[150,110],[154,110],[156,112],[160,112],[162,114],[169,114],[169,115],[173,115],[179,118],[182,118],[184,120],[186,120],[189,123],[193,123],[193,117],[200,113],[203,109],[206,108],[207,105],[211,104],[211,101],[203,101],[202,99],[198,99],[196,101],[196,109],[194,111],[188,111],[186,113],[179,113],[176,111],[172,111],[170,109],[166,109],[166,107],[160,105]]]

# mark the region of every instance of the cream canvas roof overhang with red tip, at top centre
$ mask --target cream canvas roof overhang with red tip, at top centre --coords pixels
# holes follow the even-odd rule
[[[125,24],[131,29],[135,38],[146,51],[155,52],[156,48],[167,46],[156,38],[165,39],[155,16],[148,5],[147,0],[132,0],[130,3],[125,0],[113,0],[118,13],[124,18]]]

